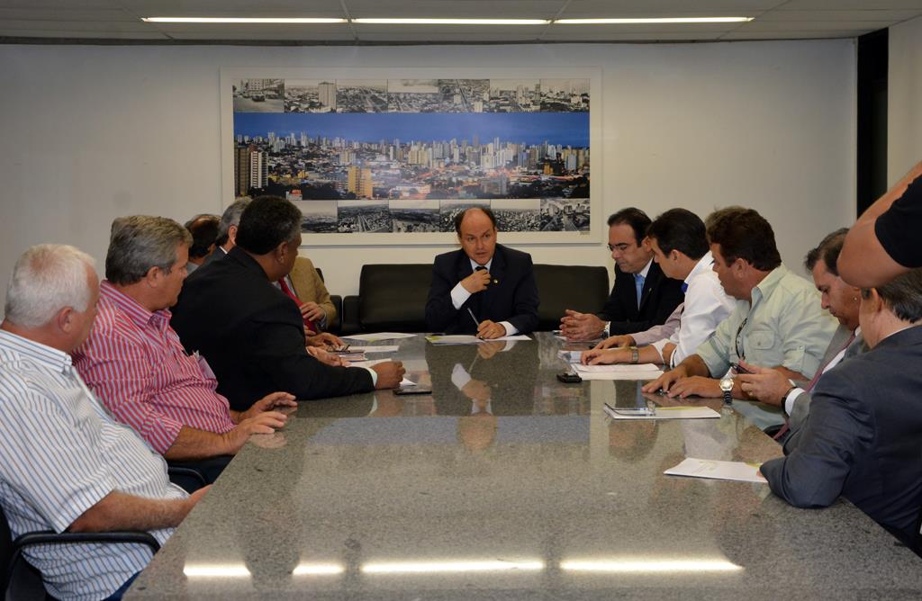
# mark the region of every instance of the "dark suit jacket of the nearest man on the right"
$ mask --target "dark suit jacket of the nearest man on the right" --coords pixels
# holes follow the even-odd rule
[[[810,414],[762,464],[774,494],[797,507],[839,495],[907,543],[922,507],[922,327],[843,361],[813,389]]]

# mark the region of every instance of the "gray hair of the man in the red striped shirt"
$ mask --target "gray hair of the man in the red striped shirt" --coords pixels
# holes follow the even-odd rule
[[[148,215],[116,218],[106,253],[106,279],[128,286],[139,282],[151,267],[169,273],[180,244],[191,246],[192,234],[172,219]]]

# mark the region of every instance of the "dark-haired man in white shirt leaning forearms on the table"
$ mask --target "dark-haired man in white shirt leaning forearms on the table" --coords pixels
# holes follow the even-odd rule
[[[675,367],[711,336],[733,310],[712,269],[704,222],[684,208],[673,208],[646,230],[650,248],[666,277],[679,280],[685,294],[679,328],[642,348],[597,348],[583,353],[583,363],[663,363]]]

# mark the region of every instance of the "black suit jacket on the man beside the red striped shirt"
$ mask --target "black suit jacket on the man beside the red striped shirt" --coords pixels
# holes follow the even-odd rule
[[[186,278],[172,313],[183,347],[207,359],[235,410],[278,390],[312,399],[373,388],[367,370],[330,367],[307,354],[301,312],[240,248]]]

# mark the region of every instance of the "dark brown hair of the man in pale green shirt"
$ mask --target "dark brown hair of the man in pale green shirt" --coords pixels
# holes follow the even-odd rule
[[[719,212],[715,218],[708,218],[707,238],[712,244],[720,244],[720,253],[727,264],[742,259],[760,271],[771,271],[781,265],[774,230],[757,211],[733,207]]]

